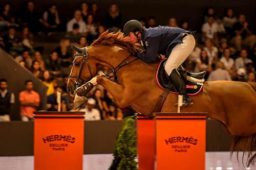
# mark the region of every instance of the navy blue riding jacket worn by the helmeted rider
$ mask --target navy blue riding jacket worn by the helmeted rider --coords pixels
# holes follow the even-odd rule
[[[146,63],[155,62],[158,54],[169,57],[172,48],[177,43],[182,43],[182,33],[191,32],[163,26],[145,29],[142,32],[141,41],[146,51],[137,53],[137,57]]]

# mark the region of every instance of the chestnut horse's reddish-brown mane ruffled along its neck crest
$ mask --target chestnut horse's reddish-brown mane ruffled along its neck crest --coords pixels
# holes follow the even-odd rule
[[[123,33],[119,30],[117,33],[111,33],[109,30],[106,30],[102,33],[98,39],[93,41],[91,45],[102,44],[102,45],[120,45],[127,47],[129,49],[137,50],[137,47],[130,42],[128,37],[125,37]]]

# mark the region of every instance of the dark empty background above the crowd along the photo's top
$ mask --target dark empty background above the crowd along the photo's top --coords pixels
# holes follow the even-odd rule
[[[2,6],[7,1],[1,1]],[[8,0],[13,6],[13,11],[16,15],[20,15],[22,7],[26,1]],[[42,13],[50,4],[57,5],[60,19],[66,23],[68,19],[73,17],[76,9],[80,8],[83,1],[51,1],[51,0],[36,0],[36,11]],[[178,23],[188,20],[189,25],[193,30],[200,31],[203,21],[205,9],[209,6],[214,7],[217,16],[223,17],[226,8],[232,8],[236,15],[243,13],[246,15],[249,23],[255,28],[256,18],[256,1],[255,0],[96,0],[86,1],[98,3],[100,11],[100,19],[103,21],[105,13],[108,11],[111,4],[115,3],[119,6],[122,14],[122,22],[129,19],[137,19],[139,17],[155,16],[158,25],[166,25],[168,18],[175,17]]]

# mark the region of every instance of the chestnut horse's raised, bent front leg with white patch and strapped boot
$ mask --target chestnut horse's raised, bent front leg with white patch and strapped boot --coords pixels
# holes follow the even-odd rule
[[[76,94],[79,96],[87,95],[88,92],[97,84],[102,85],[110,92],[119,107],[129,106],[129,104],[132,102],[132,99],[129,99],[129,95],[124,95],[125,89],[123,85],[117,84],[109,79],[103,78],[102,76],[96,76],[86,84],[77,88]]]

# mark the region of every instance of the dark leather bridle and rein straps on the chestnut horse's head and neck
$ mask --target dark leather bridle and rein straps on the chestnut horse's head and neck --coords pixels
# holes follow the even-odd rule
[[[134,60],[132,60],[132,61],[126,61],[126,60],[129,59],[129,57],[131,57],[131,56],[132,56],[132,54],[130,54],[129,56],[127,56],[124,60],[121,61],[120,64],[118,64],[117,67],[115,67],[114,69],[112,69],[112,71],[109,72],[108,74],[105,74],[105,73],[104,73],[103,77],[105,77],[105,78],[107,78],[107,79],[110,79],[110,78],[113,78],[113,77],[114,77],[115,81],[117,82],[117,81],[118,81],[118,80],[117,80],[117,76],[116,76],[117,70],[119,70],[121,67],[123,67],[123,66],[125,66],[125,65],[127,65],[127,64],[130,64],[130,63],[132,63],[132,62],[134,62],[134,61],[136,61],[136,60],[139,59],[139,58],[136,58],[136,59],[134,59]],[[80,70],[79,70],[79,72],[78,72],[78,75],[77,75],[77,76],[69,76],[69,78],[76,78],[76,81],[75,81],[75,82],[73,82],[73,81],[70,79],[70,80],[75,84],[76,88],[78,88],[79,86],[81,86],[81,85],[87,83],[88,81],[90,81],[90,80],[95,76],[95,75],[92,74],[91,67],[90,67],[90,63],[89,63],[89,61],[88,61],[88,48],[87,48],[87,47],[84,47],[84,48],[83,48],[82,53],[78,53],[78,52],[77,52],[77,53],[75,54],[75,56],[74,56],[74,61],[73,61],[73,65],[75,64],[75,61],[76,61],[76,59],[78,59],[78,58],[82,58],[82,63],[81,63],[81,67],[80,67]],[[89,72],[90,72],[90,75],[91,75],[90,78],[88,78],[87,80],[83,80],[83,79],[81,78],[81,74],[82,74],[82,70],[83,70],[84,63],[86,63],[86,65],[87,65],[87,67],[88,67],[88,70],[89,70]],[[113,76],[110,76],[110,74],[112,74],[112,73],[113,73]],[[79,83],[79,80],[81,80],[80,83]]]

